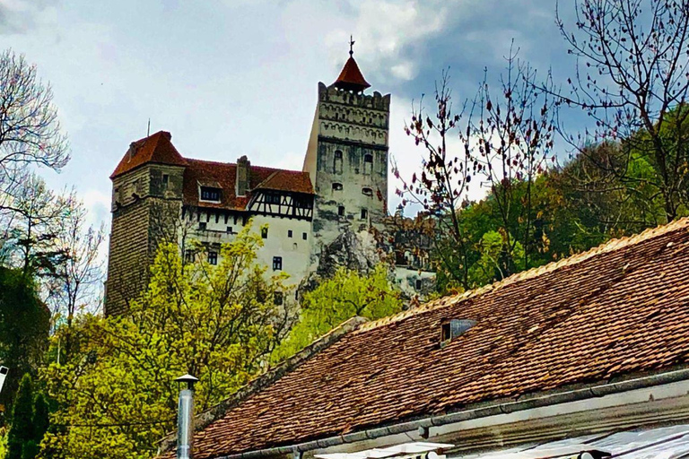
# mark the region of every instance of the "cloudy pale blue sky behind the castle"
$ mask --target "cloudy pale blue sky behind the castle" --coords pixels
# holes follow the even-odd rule
[[[554,12],[554,0],[0,0],[0,45],[52,84],[69,135],[70,163],[42,175],[109,223],[109,175],[149,118],[184,156],[301,169],[317,84],[335,80],[350,33],[371,90],[392,94],[390,152],[412,170],[404,122],[443,69],[456,100],[473,97],[514,39],[540,72],[571,74]]]

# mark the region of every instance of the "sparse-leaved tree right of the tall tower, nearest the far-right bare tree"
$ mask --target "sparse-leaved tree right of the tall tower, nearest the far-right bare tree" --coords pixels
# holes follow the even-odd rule
[[[534,180],[545,172],[547,160],[554,160],[555,119],[560,101],[551,91],[536,85],[536,71],[519,61],[519,49],[510,48],[507,68],[501,75],[498,94],[484,78],[475,106],[471,134],[477,148],[473,158],[478,174],[490,187],[503,238],[496,268],[501,277],[516,270],[515,248],[523,247],[523,267],[529,267],[529,252],[539,238],[532,231]],[[487,72],[486,72],[487,74]],[[552,88],[550,77],[543,83]],[[467,139],[468,141],[468,139]]]

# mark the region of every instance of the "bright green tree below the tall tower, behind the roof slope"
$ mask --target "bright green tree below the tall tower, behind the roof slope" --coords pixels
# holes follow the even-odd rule
[[[388,281],[387,265],[379,264],[368,275],[340,268],[331,279],[304,294],[300,320],[273,359],[292,356],[353,316],[378,319],[401,309],[402,300]]]

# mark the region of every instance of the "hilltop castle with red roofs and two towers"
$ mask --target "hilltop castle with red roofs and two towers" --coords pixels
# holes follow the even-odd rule
[[[257,258],[297,283],[323,247],[345,230],[384,230],[388,196],[390,95],[374,91],[350,56],[336,82],[318,83],[318,104],[301,171],[196,160],[181,155],[168,132],[131,143],[112,180],[105,314],[118,315],[144,289],[161,234],[218,247],[253,221],[264,239]],[[418,281],[417,281],[418,282]],[[417,284],[418,287],[418,284]]]

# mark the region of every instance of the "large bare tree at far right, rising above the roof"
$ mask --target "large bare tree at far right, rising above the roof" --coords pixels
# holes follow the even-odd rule
[[[629,189],[652,186],[647,199],[659,199],[671,221],[689,203],[689,1],[576,0],[575,9],[573,26],[557,13],[578,59],[564,100],[583,108],[596,127],[566,138],[582,154],[591,140],[622,139],[619,159],[597,167]],[[655,173],[631,173],[639,160]]]

